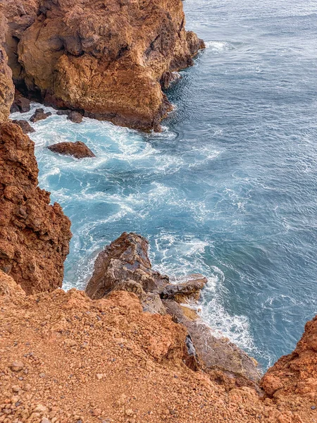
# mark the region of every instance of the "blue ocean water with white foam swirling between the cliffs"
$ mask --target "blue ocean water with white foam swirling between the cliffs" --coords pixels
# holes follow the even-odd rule
[[[85,288],[104,245],[136,231],[159,271],[209,278],[201,317],[265,369],[317,312],[317,4],[184,7],[206,49],[168,90],[163,133],[53,111],[31,135],[39,184],[72,221],[66,289]],[[46,149],[66,140],[97,158]]]

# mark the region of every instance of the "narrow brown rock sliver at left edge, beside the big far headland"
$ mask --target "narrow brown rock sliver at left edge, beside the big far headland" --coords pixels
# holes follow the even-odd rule
[[[14,97],[12,72],[8,66],[8,58],[4,49],[7,30],[6,19],[0,9],[0,123],[8,119]]]

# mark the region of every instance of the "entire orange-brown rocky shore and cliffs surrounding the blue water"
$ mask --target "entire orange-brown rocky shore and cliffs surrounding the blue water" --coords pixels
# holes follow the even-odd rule
[[[317,421],[316,318],[262,376],[191,309],[206,278],[154,271],[135,233],[99,253],[85,292],[61,289],[70,221],[38,187],[30,125],[8,121],[13,81],[47,104],[159,130],[161,87],[204,47],[181,2],[8,0],[0,29],[0,422]],[[27,108],[17,92],[15,107]]]

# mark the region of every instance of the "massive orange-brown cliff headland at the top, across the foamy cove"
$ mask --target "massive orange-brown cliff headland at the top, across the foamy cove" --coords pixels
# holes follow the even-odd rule
[[[30,92],[86,116],[149,130],[171,109],[166,73],[204,47],[181,0],[44,0],[18,44]]]

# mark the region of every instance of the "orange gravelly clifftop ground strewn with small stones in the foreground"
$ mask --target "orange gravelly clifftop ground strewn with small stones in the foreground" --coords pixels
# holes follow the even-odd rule
[[[137,296],[27,296],[0,271],[2,422],[313,423],[313,398],[261,398],[185,364],[186,330]]]

